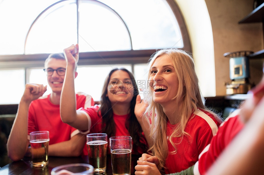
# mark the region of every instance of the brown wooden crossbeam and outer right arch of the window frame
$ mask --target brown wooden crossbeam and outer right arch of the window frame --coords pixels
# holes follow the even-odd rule
[[[180,9],[178,8],[178,5],[174,0],[166,0],[169,6],[171,7],[177,22],[179,24],[181,34],[183,35],[183,45],[184,47],[181,48],[182,50],[186,50],[190,53],[192,53],[192,48],[191,48],[191,43],[190,43],[190,38],[188,35],[188,30],[185,25],[183,16],[181,14]],[[29,29],[30,30],[30,29]],[[160,49],[160,48],[159,48]],[[94,65],[94,64],[104,64],[105,61],[99,60],[98,58],[103,58],[107,59],[107,62],[109,63],[116,63],[119,62],[130,62],[131,64],[133,63],[147,63],[146,61],[149,60],[149,57],[155,53],[157,50],[156,49],[148,49],[148,50],[123,50],[123,51],[104,51],[104,52],[83,52],[80,53],[79,58],[80,58],[80,65]],[[43,61],[45,60],[49,54],[19,54],[19,55],[0,55],[0,63],[1,62],[27,62],[27,65],[29,67],[34,67],[36,60],[37,61]],[[124,60],[126,58],[126,61]],[[141,60],[141,58],[143,58]],[[32,63],[30,63],[32,61]],[[91,61],[91,62],[90,62]],[[84,64],[83,64],[84,63]],[[87,64],[88,63],[88,64]],[[16,64],[15,64],[16,65]],[[6,68],[7,65],[4,67]],[[20,67],[19,65],[17,65]],[[11,67],[14,67],[11,66]],[[18,68],[17,67],[17,68]],[[0,68],[3,68],[0,65]]]

